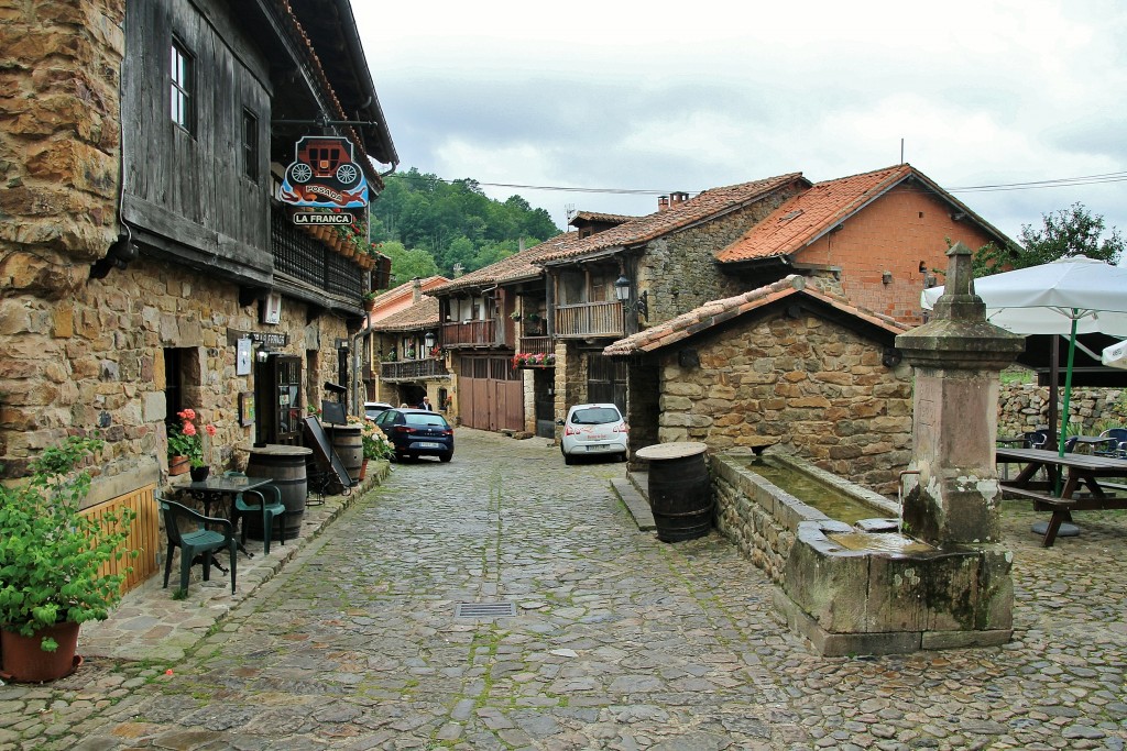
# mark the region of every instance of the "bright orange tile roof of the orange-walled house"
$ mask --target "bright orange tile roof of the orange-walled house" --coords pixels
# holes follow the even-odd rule
[[[996,235],[999,242],[1005,244],[1005,235],[917,169],[905,163],[815,184],[717,253],[717,260],[729,263],[797,252],[909,178],[920,180],[937,196],[958,206],[984,230]]]

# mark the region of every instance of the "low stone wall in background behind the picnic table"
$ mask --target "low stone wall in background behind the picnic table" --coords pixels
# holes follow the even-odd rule
[[[1064,394],[1057,409],[1064,409]],[[1073,388],[1068,400],[1072,424],[1084,436],[1127,426],[1127,388]],[[997,435],[1019,436],[1049,423],[1048,386],[1003,384],[999,394]],[[1113,424],[1111,424],[1113,423]]]

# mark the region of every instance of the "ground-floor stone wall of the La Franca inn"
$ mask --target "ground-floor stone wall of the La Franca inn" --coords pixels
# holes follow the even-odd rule
[[[233,285],[144,259],[90,280],[65,301],[0,298],[3,476],[19,476],[29,456],[69,433],[97,430],[107,442],[91,500],[161,482],[168,468],[165,348],[184,350],[192,372],[185,403],[219,430],[210,441],[211,461],[245,464],[255,436],[252,427],[239,424],[238,394],[254,390],[254,376],[236,375],[230,336],[263,327],[258,306],[237,301]],[[279,349],[301,356],[303,368],[309,350],[347,336],[343,321],[321,316],[307,324],[305,314],[303,305],[286,299],[281,324],[269,327],[289,336]],[[307,390],[338,379],[334,358],[312,361],[318,372],[304,374]]]

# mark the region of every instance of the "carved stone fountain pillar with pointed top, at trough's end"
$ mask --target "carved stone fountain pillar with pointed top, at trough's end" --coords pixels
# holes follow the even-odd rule
[[[974,294],[971,251],[957,243],[934,318],[896,338],[915,368],[912,464],[905,482],[907,534],[938,547],[1001,538],[997,470],[999,373],[1024,340],[986,322]]]

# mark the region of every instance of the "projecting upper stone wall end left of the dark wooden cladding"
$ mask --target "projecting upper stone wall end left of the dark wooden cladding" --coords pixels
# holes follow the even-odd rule
[[[66,295],[117,238],[124,15],[124,0],[0,0],[6,296]]]

